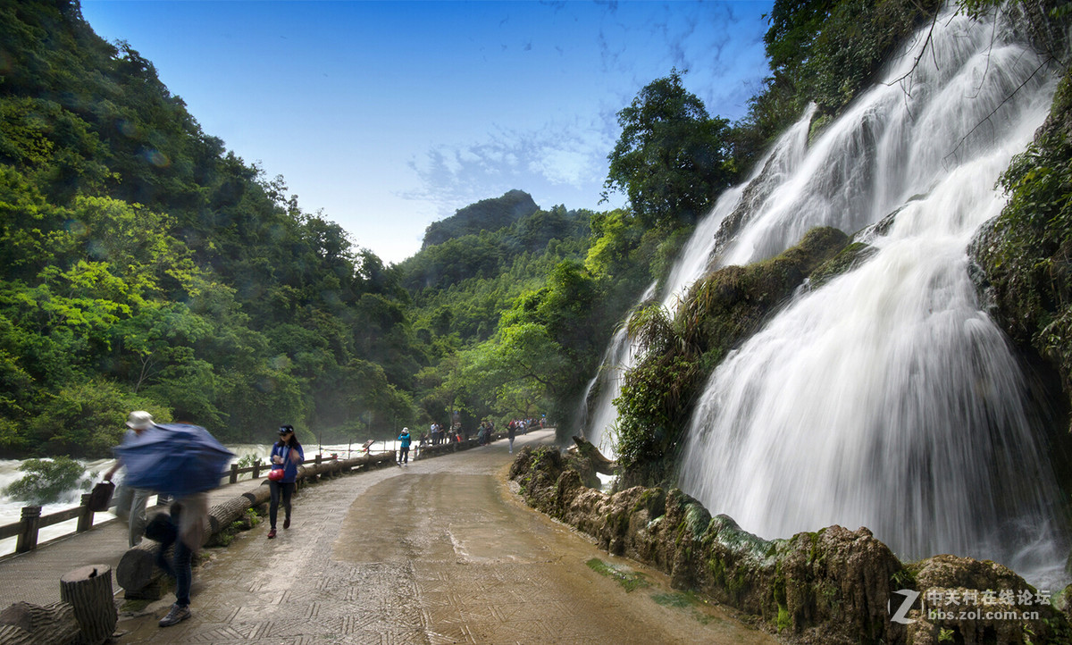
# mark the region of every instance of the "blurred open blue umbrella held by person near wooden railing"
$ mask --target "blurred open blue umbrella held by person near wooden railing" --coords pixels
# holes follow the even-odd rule
[[[199,425],[158,423],[116,446],[126,467],[126,485],[181,497],[210,491],[235,453]]]

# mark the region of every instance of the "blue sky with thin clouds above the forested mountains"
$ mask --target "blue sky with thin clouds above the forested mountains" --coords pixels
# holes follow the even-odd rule
[[[605,210],[616,112],[671,69],[736,119],[768,68],[762,2],[83,0],[204,131],[388,262],[511,189]]]

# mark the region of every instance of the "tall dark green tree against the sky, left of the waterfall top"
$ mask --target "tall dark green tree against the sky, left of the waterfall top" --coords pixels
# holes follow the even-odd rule
[[[695,223],[736,177],[729,122],[708,115],[678,70],[645,86],[617,122],[604,197],[624,192],[645,228]]]

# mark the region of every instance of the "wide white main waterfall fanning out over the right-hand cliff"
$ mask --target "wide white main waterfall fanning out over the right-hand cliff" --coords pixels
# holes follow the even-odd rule
[[[1055,478],[1019,366],[967,271],[973,234],[1004,201],[996,179],[1053,87],[1026,80],[1040,61],[1000,26],[942,16],[920,57],[924,36],[723,256],[756,261],[814,226],[851,232],[896,213],[869,234],[872,257],[799,296],[719,365],[680,483],[765,538],[867,526],[904,558],[992,558],[1056,585],[1067,551]]]

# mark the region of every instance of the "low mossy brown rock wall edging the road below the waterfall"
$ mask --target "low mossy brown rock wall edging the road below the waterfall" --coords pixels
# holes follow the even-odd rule
[[[670,575],[674,587],[746,612],[792,642],[1072,642],[1064,616],[1049,605],[1024,602],[1012,609],[1039,614],[1015,620],[1008,614],[927,613],[944,608],[950,592],[963,602],[972,589],[977,598],[985,589],[1024,599],[1034,591],[991,561],[940,555],[906,566],[863,527],[831,526],[764,540],[727,515],[712,518],[676,489],[634,486],[608,495],[589,488],[550,447],[522,449],[510,478],[521,484],[530,506],[592,536],[600,548],[653,566]],[[909,598],[905,591],[918,596],[903,619],[893,620]]]

